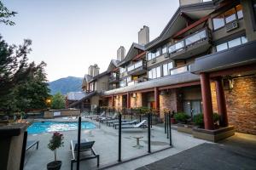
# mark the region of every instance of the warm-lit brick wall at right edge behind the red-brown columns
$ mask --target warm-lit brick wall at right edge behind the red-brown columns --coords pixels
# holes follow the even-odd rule
[[[218,112],[215,82],[211,83],[212,109]],[[238,77],[234,87],[225,90],[229,124],[237,132],[256,134],[256,77]]]

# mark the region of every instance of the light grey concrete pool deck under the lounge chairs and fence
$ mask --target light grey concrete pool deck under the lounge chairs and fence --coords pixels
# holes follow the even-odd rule
[[[100,155],[100,167],[105,167],[112,163],[117,163],[118,160],[118,130],[113,129],[113,127],[107,127],[105,124],[101,124],[98,126],[98,122],[96,122],[97,127],[93,130],[82,130],[82,139],[86,138],[89,140],[95,140],[96,143],[94,148],[97,154]],[[164,128],[159,126],[153,126],[152,128],[152,136],[151,136],[151,150],[160,150],[169,146],[169,139],[166,139],[166,134],[164,133]],[[70,169],[70,160],[72,159],[72,153],[70,150],[70,140],[77,139],[77,131],[66,131],[64,134],[64,147],[57,150],[57,158],[62,161],[61,170]],[[53,161],[54,156],[52,151],[47,148],[47,144],[49,143],[49,139],[52,133],[43,133],[38,135],[28,135],[28,140],[38,139],[39,140],[39,148],[35,150],[28,150],[26,153],[26,164],[25,170],[41,170],[46,169],[46,164],[49,161]],[[134,136],[143,136],[141,140],[141,144],[143,145],[142,149],[137,149],[132,147],[136,144],[136,139]],[[148,139],[147,129],[132,129],[132,130],[123,130],[122,132],[122,160],[129,159],[134,156],[142,156],[147,153]],[[125,165],[129,164],[125,163],[120,165],[121,167],[111,167],[109,169],[135,169],[137,167],[142,167],[148,163],[158,161],[166,156],[172,156],[181,152],[183,150],[187,150],[189,148],[195,147],[198,144],[205,143],[206,141],[201,139],[194,139],[191,135],[186,133],[177,133],[176,130],[172,130],[172,144],[173,148],[164,150],[162,152],[152,154],[150,156],[146,156],[140,158],[141,161],[132,161],[135,162],[129,167],[125,167]],[[75,167],[76,164],[74,164]],[[96,169],[96,159],[80,161],[81,169]]]

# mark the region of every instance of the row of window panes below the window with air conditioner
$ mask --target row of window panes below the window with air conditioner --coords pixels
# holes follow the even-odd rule
[[[247,42],[247,37],[244,37],[244,36],[237,37],[236,39],[230,40],[228,42],[218,44],[216,46],[216,51],[218,52],[218,51],[222,51],[224,49],[233,48],[233,47],[236,47],[236,46],[241,45],[246,42]]]

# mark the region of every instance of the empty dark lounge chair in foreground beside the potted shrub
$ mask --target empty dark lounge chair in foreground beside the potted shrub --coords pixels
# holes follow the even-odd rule
[[[95,141],[88,141],[86,139],[81,139],[80,142],[80,161],[89,160],[96,158],[97,159],[97,167],[100,165],[100,156],[96,154],[93,149],[93,144]],[[71,170],[73,170],[73,163],[77,162],[77,151],[78,151],[78,141],[71,140],[70,141],[70,149],[72,150],[73,159],[71,160]],[[86,154],[84,154],[86,152]]]

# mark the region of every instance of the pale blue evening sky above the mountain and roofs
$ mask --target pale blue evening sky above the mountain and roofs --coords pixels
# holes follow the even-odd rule
[[[48,80],[84,77],[90,65],[106,71],[117,49],[126,52],[137,32],[149,27],[149,39],[160,35],[178,8],[178,0],[3,0],[18,12],[15,26],[0,25],[9,44],[32,40],[30,61],[47,63]]]

